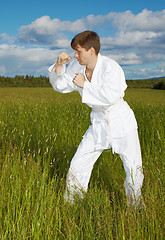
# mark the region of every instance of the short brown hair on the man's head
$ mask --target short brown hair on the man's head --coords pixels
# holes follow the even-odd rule
[[[96,54],[98,54],[100,51],[100,38],[97,33],[93,31],[84,31],[77,34],[71,41],[71,47],[74,50],[78,45],[86,50],[89,50],[91,47],[93,47]]]

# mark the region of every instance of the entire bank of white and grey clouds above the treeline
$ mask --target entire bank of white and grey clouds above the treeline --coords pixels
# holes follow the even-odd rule
[[[46,75],[47,66],[54,62],[59,52],[64,49],[71,51],[70,38],[91,29],[102,36],[102,53],[123,66],[131,66],[130,71],[126,68],[127,76],[147,78],[152,71],[153,75],[161,76],[165,62],[164,23],[165,10],[152,12],[144,9],[136,15],[131,11],[91,14],[74,22],[42,16],[29,25],[21,26],[18,36],[0,35],[2,43],[11,44],[0,45],[0,75]],[[13,44],[15,38],[17,41]],[[147,70],[142,66],[151,63],[157,67]]]

